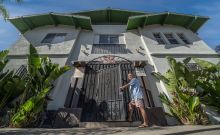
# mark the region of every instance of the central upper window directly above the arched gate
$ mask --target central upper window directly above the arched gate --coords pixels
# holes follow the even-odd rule
[[[100,35],[99,44],[119,44],[118,35]]]

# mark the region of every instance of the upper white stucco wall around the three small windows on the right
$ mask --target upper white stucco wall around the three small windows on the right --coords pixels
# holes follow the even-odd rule
[[[144,37],[144,41],[147,44],[147,48],[151,53],[193,53],[193,54],[213,54],[213,49],[200,39],[195,33],[189,29],[185,29],[180,26],[174,25],[150,25],[143,29],[139,29],[139,32]],[[158,45],[153,33],[173,33],[175,38],[180,44],[178,45]],[[183,33],[186,39],[191,43],[189,45],[184,44],[175,34]],[[166,40],[166,38],[164,38]]]

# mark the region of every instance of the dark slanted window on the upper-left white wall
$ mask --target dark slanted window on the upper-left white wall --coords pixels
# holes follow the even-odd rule
[[[66,33],[49,33],[41,43],[56,44],[65,41]]]

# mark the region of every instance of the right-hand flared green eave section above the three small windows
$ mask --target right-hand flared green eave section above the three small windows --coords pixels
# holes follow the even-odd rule
[[[172,24],[185,27],[196,32],[209,18],[176,13],[159,13],[129,17],[127,30],[136,29],[152,24]]]

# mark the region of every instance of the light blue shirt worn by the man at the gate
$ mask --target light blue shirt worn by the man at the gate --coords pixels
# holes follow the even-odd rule
[[[131,95],[131,100],[137,100],[137,99],[142,99],[143,98],[143,93],[140,87],[140,82],[137,78],[133,78],[130,82],[130,95]]]

